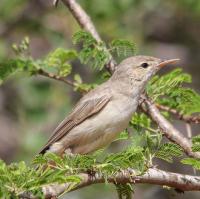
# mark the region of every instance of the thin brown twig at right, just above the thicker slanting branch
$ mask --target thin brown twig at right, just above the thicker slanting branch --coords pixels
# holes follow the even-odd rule
[[[163,111],[167,111],[169,113],[174,114],[179,120],[184,120],[187,123],[195,123],[200,124],[200,116],[190,116],[190,115],[184,115],[177,111],[176,109],[172,109],[168,106],[163,106],[160,104],[156,104],[157,108]]]

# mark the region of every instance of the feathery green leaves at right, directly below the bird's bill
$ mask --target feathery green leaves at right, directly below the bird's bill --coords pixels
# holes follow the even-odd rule
[[[184,87],[190,83],[191,76],[181,69],[160,76],[155,76],[147,86],[147,93],[159,104],[177,109],[183,114],[200,112],[200,95],[191,88]]]

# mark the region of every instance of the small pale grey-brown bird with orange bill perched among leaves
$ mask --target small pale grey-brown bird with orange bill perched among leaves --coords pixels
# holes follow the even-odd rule
[[[151,77],[178,60],[144,55],[124,59],[110,79],[79,100],[40,154],[90,154],[109,145],[127,128]]]

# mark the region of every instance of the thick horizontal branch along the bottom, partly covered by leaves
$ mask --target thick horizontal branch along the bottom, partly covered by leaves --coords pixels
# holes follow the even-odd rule
[[[200,191],[200,177],[184,175],[172,172],[166,172],[156,168],[150,168],[143,175],[137,175],[134,169],[127,169],[118,172],[115,176],[110,176],[107,178],[109,183],[119,183],[119,184],[155,184],[161,186],[173,187],[181,191]],[[81,173],[78,176],[82,179],[79,185],[70,191],[80,189],[92,184],[105,183],[105,178],[101,173],[94,173],[92,175],[87,173]],[[45,198],[52,198],[59,196],[64,193],[67,189],[73,186],[73,183],[65,184],[52,184],[46,185],[42,188]],[[35,198],[29,193],[23,193],[20,198]]]

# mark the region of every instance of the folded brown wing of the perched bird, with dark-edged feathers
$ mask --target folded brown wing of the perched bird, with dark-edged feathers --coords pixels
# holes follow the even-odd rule
[[[47,144],[40,151],[41,154],[55,142],[63,138],[72,128],[91,117],[92,115],[98,113],[103,109],[106,104],[110,101],[111,96],[108,94],[95,97],[92,99],[80,101],[71,114],[65,118],[60,125],[55,129],[52,136],[48,140]]]

